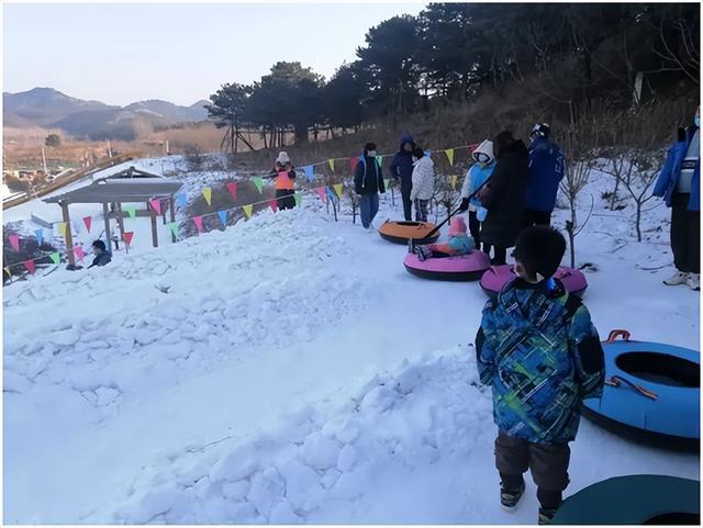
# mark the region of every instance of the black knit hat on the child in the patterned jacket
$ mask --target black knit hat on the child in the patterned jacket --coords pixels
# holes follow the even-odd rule
[[[513,256],[527,274],[538,280],[549,279],[561,262],[567,243],[553,227],[537,225],[523,231],[515,241]]]

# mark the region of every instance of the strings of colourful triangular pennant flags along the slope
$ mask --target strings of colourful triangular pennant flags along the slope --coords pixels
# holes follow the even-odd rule
[[[449,161],[450,165],[454,165],[454,154],[456,150],[459,149],[465,149],[465,148],[473,148],[476,145],[466,145],[466,146],[458,146],[458,147],[453,147],[453,148],[446,148],[443,150],[425,150],[425,156],[431,156],[432,154],[435,153],[444,153],[447,156],[447,159]],[[383,162],[383,157],[388,156],[388,155],[377,155],[376,156],[376,161],[378,162],[379,167],[382,166]],[[330,166],[331,170],[335,170],[335,161],[338,159],[345,159],[345,158],[330,158],[326,164]],[[357,165],[359,164],[360,157],[353,157],[353,158],[348,158],[348,164],[349,164],[349,168],[352,169],[352,171],[354,172],[354,170],[356,169]],[[315,175],[314,175],[314,167],[319,167],[319,166],[323,166],[325,165],[325,161],[321,161],[317,164],[311,164],[308,166],[304,166],[298,170],[301,170],[304,176],[305,179],[309,182],[312,182],[315,179]],[[280,172],[280,175],[286,175],[286,177],[288,177],[287,172]],[[458,180],[458,176],[457,175],[451,175],[450,177],[450,183],[451,183],[451,188],[456,189],[457,186],[457,180]],[[259,191],[259,193],[263,192],[264,189],[264,178],[263,177],[253,177],[252,182],[254,183],[254,186],[256,187],[256,189]],[[390,183],[391,180],[390,179],[384,179],[383,182],[386,183],[386,189],[390,188]],[[225,187],[227,189],[227,192],[230,193],[230,195],[232,196],[233,201],[236,201],[237,195],[238,195],[238,187],[237,187],[237,182],[226,182]],[[320,200],[323,203],[326,203],[327,199],[331,200],[341,200],[343,198],[344,194],[344,183],[334,183],[332,186],[322,186],[322,187],[316,187],[313,189],[313,191],[315,191],[315,193],[317,194],[317,196],[320,198]],[[295,200],[295,205],[300,206],[300,204],[302,203],[302,194],[303,192],[309,192],[306,190],[304,191],[297,191],[294,193],[294,200]],[[212,204],[212,188],[210,187],[203,187],[201,189],[201,194],[203,195],[205,202],[208,203],[208,205]],[[186,193],[180,192],[175,194],[174,196],[178,203],[178,205],[181,209],[185,209],[188,205],[188,196],[186,195]],[[192,216],[190,218],[183,218],[181,221],[177,221],[177,222],[170,222],[168,224],[169,231],[174,234],[175,237],[178,237],[180,234],[180,227],[179,224],[181,222],[183,222],[185,220],[192,220],[193,224],[196,225],[196,228],[198,229],[198,233],[202,233],[203,232],[203,218],[208,217],[208,216],[213,216],[213,215],[217,215],[220,223],[222,224],[223,227],[226,227],[227,225],[227,218],[228,218],[228,212],[230,211],[234,211],[236,209],[242,209],[244,211],[244,214],[246,216],[246,218],[250,218],[253,213],[254,213],[254,205],[260,205],[263,203],[268,204],[268,206],[274,211],[277,212],[278,211],[278,200],[277,199],[268,199],[268,200],[263,200],[259,202],[254,202],[254,203],[248,203],[245,205],[237,205],[227,210],[221,210],[221,211],[216,211],[213,213],[208,213],[204,215],[198,215],[198,216]],[[161,209],[161,200],[159,198],[153,198],[149,200],[149,206],[156,212],[156,214],[160,215],[163,213],[163,209]],[[124,205],[123,206],[124,211],[127,213],[127,215],[130,216],[130,218],[134,220],[136,218],[136,207],[134,205]],[[88,233],[90,233],[90,229],[92,227],[92,216],[85,216],[82,218],[83,225],[86,226],[86,231]],[[68,231],[68,225],[66,222],[59,222],[58,223],[58,231],[62,235],[62,237],[66,238],[66,234]],[[42,246],[42,244],[44,243],[44,229],[36,229],[34,232],[36,241],[38,246]],[[20,237],[16,234],[12,234],[9,235],[9,241],[10,245],[12,246],[12,249],[15,252],[20,252]],[[132,245],[132,240],[134,238],[134,232],[125,232],[124,233],[124,243],[125,245],[129,247]],[[86,257],[86,252],[82,249],[82,246],[75,246],[72,248],[74,255],[78,258],[79,261],[83,261],[85,257]],[[24,266],[24,268],[32,274],[34,274],[34,272],[36,271],[36,265],[35,262],[37,260],[42,260],[44,258],[49,258],[55,265],[60,263],[60,252],[58,251],[53,251],[53,252],[47,252],[42,255],[41,257],[37,257],[35,259],[31,259],[31,260],[25,260],[22,262],[16,262],[10,266],[5,266],[4,267],[4,271],[10,274],[10,268],[12,267],[16,267],[16,266]]]

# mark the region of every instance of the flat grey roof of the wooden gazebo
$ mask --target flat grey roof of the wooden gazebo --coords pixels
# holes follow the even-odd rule
[[[152,198],[171,196],[183,184],[165,178],[116,178],[92,182],[63,194],[55,194],[46,203],[124,203],[148,202]]]

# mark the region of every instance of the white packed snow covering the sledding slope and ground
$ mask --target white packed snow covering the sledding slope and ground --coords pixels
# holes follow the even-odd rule
[[[698,349],[698,294],[661,284],[668,211],[638,244],[606,184],[577,246],[601,335]],[[315,200],[4,289],[5,523],[535,523],[532,483],[499,506],[479,285],[410,276]],[[699,475],[585,420],[572,450],[567,494]]]

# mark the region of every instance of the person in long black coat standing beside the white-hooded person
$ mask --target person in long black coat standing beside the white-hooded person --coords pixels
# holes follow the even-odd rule
[[[493,141],[495,169],[491,181],[479,194],[488,215],[481,228],[486,251],[493,247],[491,263],[505,263],[509,247],[515,245],[523,228],[525,192],[529,177],[528,151],[522,139],[515,139],[509,131],[501,132]]]

